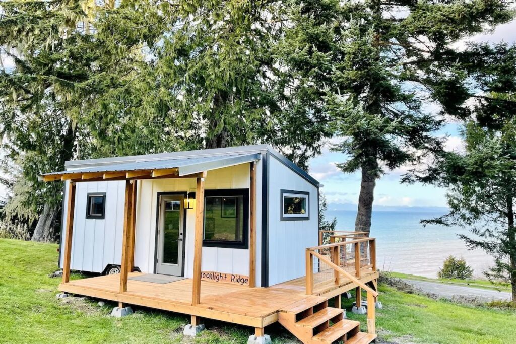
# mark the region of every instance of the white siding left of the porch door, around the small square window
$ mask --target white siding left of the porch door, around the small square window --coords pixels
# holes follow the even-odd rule
[[[68,204],[66,183],[65,209]],[[72,232],[72,254],[70,268],[91,272],[102,272],[110,264],[120,264],[122,258],[122,233],[124,226],[125,182],[81,182],[76,184],[75,209]],[[105,217],[86,219],[86,202],[89,192],[105,192]],[[63,217],[63,228],[66,226]],[[61,242],[65,242],[66,231],[62,231]],[[61,247],[59,265],[62,267],[65,247]]]

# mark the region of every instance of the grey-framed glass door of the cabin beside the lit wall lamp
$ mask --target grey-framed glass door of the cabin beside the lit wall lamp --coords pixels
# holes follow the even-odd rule
[[[160,196],[156,272],[183,275],[183,196]]]

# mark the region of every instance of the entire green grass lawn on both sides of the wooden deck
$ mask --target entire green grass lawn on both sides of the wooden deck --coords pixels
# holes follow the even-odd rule
[[[109,316],[114,303],[101,307],[83,298],[56,299],[60,279],[57,245],[0,239],[0,342],[17,343],[245,343],[252,329],[207,322],[209,331],[195,339],[181,334],[188,318],[136,308],[122,319]],[[73,275],[79,278],[80,275]],[[381,287],[384,308],[377,312],[381,339],[416,343],[508,343],[516,338],[516,313],[474,308]],[[346,308],[351,300],[343,301]],[[349,308],[348,308],[349,309]],[[362,321],[365,317],[350,318]],[[267,327],[273,342],[295,339],[281,326]]]

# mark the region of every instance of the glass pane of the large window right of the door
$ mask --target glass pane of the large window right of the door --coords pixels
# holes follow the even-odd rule
[[[243,196],[206,197],[204,204],[205,241],[244,241]]]

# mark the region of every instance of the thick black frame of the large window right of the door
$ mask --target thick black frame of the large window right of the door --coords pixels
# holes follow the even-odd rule
[[[225,241],[225,240],[205,240],[204,230],[205,223],[204,219],[206,216],[206,198],[208,197],[232,197],[241,196],[243,198],[243,227],[242,227],[242,241]],[[204,191],[204,211],[202,217],[202,245],[203,247],[216,247],[216,248],[228,248],[228,249],[249,249],[249,189],[215,189]]]

